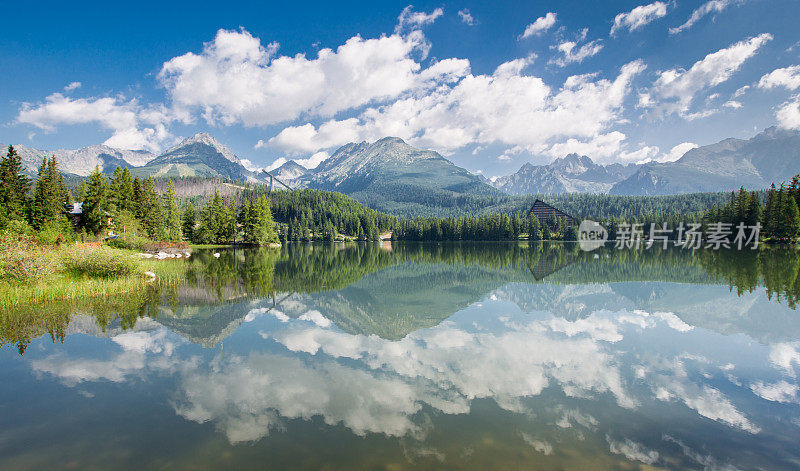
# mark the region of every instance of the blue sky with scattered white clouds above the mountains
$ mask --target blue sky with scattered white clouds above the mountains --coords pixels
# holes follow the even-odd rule
[[[796,0],[5,2],[0,142],[252,165],[397,135],[487,176],[800,128]],[[312,157],[313,156],[313,157]]]

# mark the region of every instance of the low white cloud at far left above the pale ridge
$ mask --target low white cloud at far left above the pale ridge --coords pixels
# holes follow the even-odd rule
[[[172,138],[167,125],[173,115],[163,106],[144,107],[117,97],[70,98],[53,93],[42,103],[23,103],[16,122],[54,132],[60,125],[97,123],[112,131],[104,144],[119,149],[161,150]]]

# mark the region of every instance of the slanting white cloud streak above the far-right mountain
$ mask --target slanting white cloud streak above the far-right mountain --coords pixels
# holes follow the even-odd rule
[[[639,106],[654,107],[659,114],[678,113],[686,118],[707,116],[707,112],[689,112],[695,95],[728,80],[771,39],[772,35],[761,34],[708,54],[689,70],[669,69],[661,72],[646,94],[647,100],[640,99]]]

